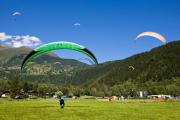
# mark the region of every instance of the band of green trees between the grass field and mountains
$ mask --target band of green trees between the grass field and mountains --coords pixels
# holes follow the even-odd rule
[[[9,91],[11,98],[20,96],[21,98],[28,98],[29,95],[35,93],[37,97],[53,97],[54,95],[64,95],[68,97],[82,95],[110,97],[110,96],[124,96],[137,98],[139,91],[145,91],[147,95],[152,94],[167,94],[172,96],[180,96],[180,77],[166,80],[166,82],[147,81],[139,84],[133,80],[125,81],[121,84],[108,87],[105,84],[80,87],[75,85],[62,85],[51,83],[38,83],[19,80],[13,78],[11,80],[0,79],[0,96]]]

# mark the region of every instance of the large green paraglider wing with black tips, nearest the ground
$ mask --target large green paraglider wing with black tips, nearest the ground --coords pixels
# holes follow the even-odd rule
[[[91,58],[95,64],[98,64],[97,59],[93,55],[93,53],[91,51],[89,51],[87,48],[85,48],[84,46],[81,46],[81,45],[78,45],[78,44],[72,43],[72,42],[52,42],[52,43],[44,44],[44,45],[34,49],[32,52],[30,52],[24,59],[22,65],[21,65],[21,70],[24,68],[24,66],[29,61],[31,61],[35,57],[37,57],[43,53],[52,51],[52,50],[60,50],[60,49],[79,51],[79,52],[87,55],[89,58]]]

